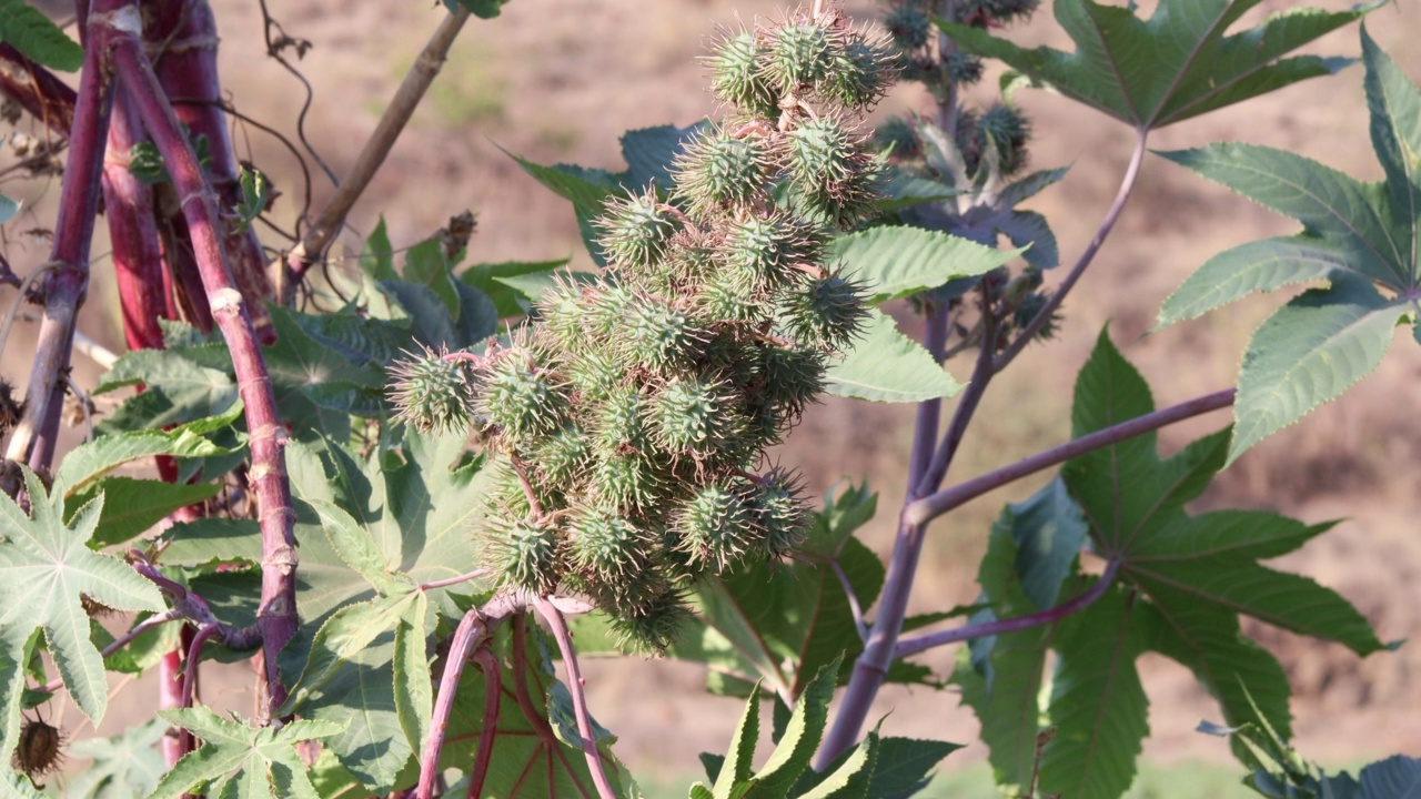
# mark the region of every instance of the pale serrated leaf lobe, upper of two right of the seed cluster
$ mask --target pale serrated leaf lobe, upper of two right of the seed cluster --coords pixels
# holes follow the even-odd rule
[[[843,266],[845,277],[865,283],[868,301],[878,304],[986,274],[1019,254],[1022,250],[996,250],[938,230],[887,226],[834,239],[824,263]]]

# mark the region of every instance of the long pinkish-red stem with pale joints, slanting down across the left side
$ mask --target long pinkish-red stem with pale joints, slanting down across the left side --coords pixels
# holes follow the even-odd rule
[[[136,14],[136,9],[134,11]],[[286,472],[286,431],[277,414],[271,378],[261,357],[246,300],[233,286],[227,269],[216,196],[148,64],[138,30],[118,33],[121,36],[115,38],[112,47],[114,65],[124,87],[134,97],[138,112],[178,189],[207,303],[232,353],[237,392],[246,407],[252,452],[252,471],[247,479],[252,483],[252,493],[257,498],[257,523],[261,529],[261,600],[257,607],[257,630],[261,634],[267,709],[274,714],[286,702],[286,687],[281,684],[277,655],[296,634],[298,624],[297,554],[291,485]]]

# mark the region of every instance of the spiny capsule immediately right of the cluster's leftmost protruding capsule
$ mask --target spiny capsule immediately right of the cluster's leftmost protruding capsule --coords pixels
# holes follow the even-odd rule
[[[512,442],[527,442],[563,424],[564,400],[522,347],[496,355],[485,368],[479,391],[479,415]]]

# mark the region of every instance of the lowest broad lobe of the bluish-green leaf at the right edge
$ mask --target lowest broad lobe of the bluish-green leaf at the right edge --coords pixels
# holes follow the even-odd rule
[[[1371,374],[1407,313],[1370,283],[1336,276],[1265,320],[1239,368],[1228,462]]]

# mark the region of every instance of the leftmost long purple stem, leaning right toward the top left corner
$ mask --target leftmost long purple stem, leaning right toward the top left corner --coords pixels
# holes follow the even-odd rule
[[[105,9],[105,3],[98,4],[98,10]],[[94,239],[104,138],[114,100],[112,81],[102,67],[102,40],[84,53],[84,71],[80,75],[74,127],[70,132],[70,155],[60,183],[60,212],[54,222],[50,270],[40,284],[44,318],[40,321],[30,382],[24,394],[26,412],[6,449],[6,459],[28,463],[37,472],[48,472],[54,456],[60,405],[64,401],[60,375],[70,367],[74,323],[88,291],[90,243]]]

